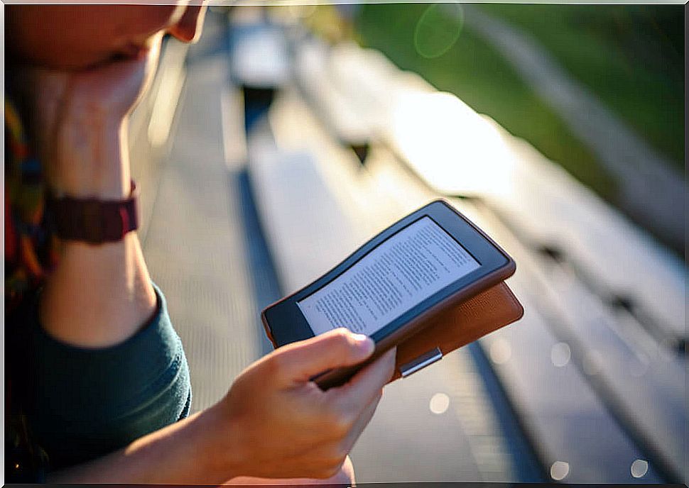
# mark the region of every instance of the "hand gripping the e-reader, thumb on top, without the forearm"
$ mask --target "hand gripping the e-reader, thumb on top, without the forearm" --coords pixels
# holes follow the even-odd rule
[[[218,467],[264,478],[335,475],[375,412],[395,350],[342,387],[323,392],[310,377],[362,362],[373,350],[369,338],[342,328],[286,345],[251,365],[211,409],[219,419],[212,454]]]

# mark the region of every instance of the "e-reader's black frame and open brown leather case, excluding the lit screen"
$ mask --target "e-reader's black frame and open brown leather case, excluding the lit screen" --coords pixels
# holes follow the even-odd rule
[[[447,201],[440,199],[394,223],[320,279],[264,309],[261,319],[273,346],[277,348],[284,343],[313,336],[313,331],[310,331],[308,323],[295,306],[296,301],[327,286],[335,279],[332,276],[342,274],[343,270],[354,265],[377,245],[423,216],[431,216],[436,223],[442,224],[445,231],[452,226],[452,221],[459,222],[459,227],[455,228],[455,231],[450,231],[450,235],[477,257],[479,262],[492,262],[492,267],[487,272],[479,273],[475,279],[455,287],[449,294],[446,293],[443,299],[435,301],[412,318],[402,318],[403,322],[398,323],[393,327],[394,330],[385,336],[376,339],[374,334],[376,351],[367,362],[325,372],[315,377],[314,381],[320,387],[327,389],[342,384],[361,367],[394,346],[397,346],[397,357],[393,380],[406,377],[433,364],[462,345],[519,320],[523,315],[523,307],[519,300],[504,283],[504,280],[516,270],[514,260],[474,223],[462,216]],[[467,245],[462,242],[467,240],[474,243]],[[281,328],[286,328],[287,323],[291,327],[291,323],[300,322],[301,331],[298,334],[301,336],[295,334],[296,338],[290,337],[286,340],[283,335],[282,339],[276,340],[276,332],[284,334],[284,331],[273,331],[270,314],[280,319]],[[273,318],[273,322],[277,323],[278,320]]]

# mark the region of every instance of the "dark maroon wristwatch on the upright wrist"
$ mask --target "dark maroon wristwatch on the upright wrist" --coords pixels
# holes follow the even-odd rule
[[[131,182],[126,200],[77,199],[48,194],[47,205],[55,235],[89,244],[116,242],[139,228],[138,192]]]

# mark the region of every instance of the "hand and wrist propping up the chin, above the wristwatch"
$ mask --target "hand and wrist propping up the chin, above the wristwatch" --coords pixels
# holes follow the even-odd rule
[[[162,33],[147,52],[74,72],[26,67],[18,88],[31,140],[56,194],[121,199],[129,194],[126,117],[158,62]]]

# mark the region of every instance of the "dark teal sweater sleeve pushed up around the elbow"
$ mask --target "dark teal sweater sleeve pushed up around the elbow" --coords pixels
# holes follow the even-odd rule
[[[60,469],[112,452],[188,415],[191,386],[182,342],[161,290],[146,326],[109,348],[48,336],[36,307],[23,388],[31,435]]]

